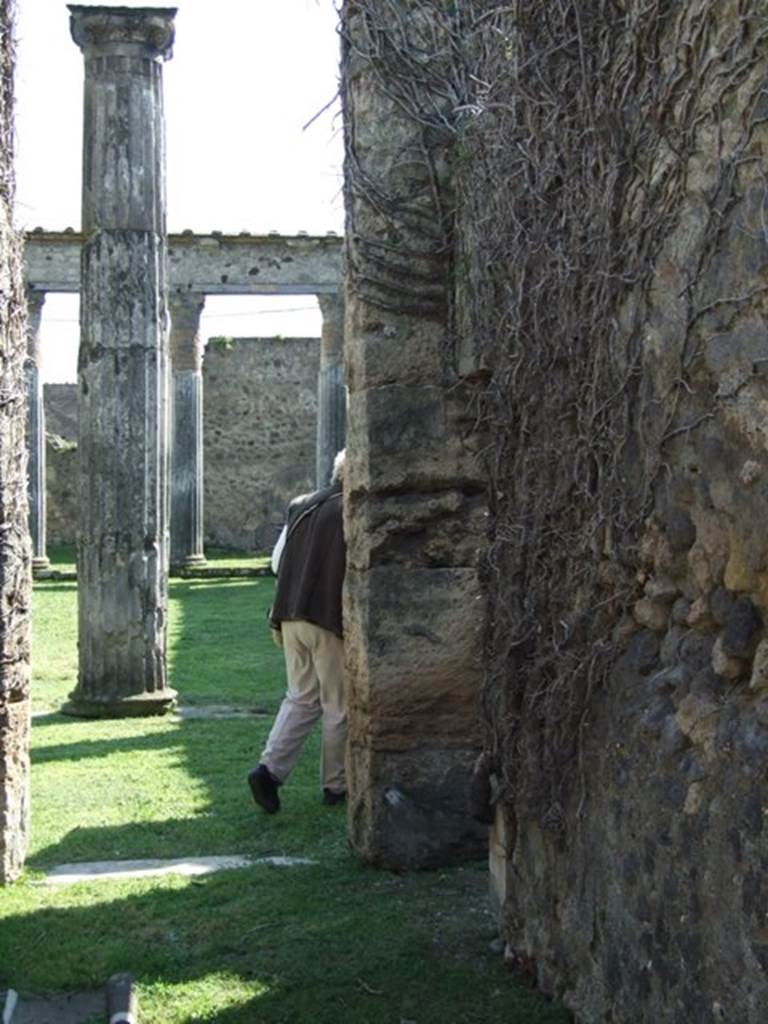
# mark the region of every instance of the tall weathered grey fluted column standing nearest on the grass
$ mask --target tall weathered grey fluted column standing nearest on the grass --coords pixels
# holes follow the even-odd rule
[[[70,6],[85,56],[78,599],[67,711],[170,708],[162,62],[171,8]]]

